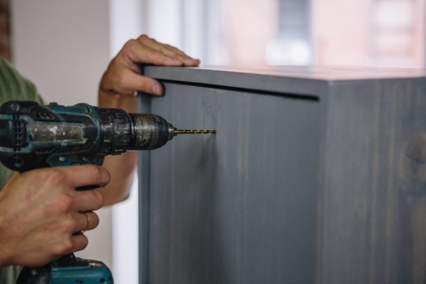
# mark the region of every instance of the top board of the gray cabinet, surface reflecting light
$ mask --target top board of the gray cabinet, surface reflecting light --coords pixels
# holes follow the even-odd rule
[[[144,73],[174,82],[305,94],[318,93],[335,83],[426,79],[423,69],[319,66],[145,66]]]

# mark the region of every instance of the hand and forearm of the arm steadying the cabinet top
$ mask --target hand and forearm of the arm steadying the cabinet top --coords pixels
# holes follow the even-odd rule
[[[192,59],[182,51],[160,44],[155,39],[141,35],[124,44],[102,76],[99,87],[99,106],[122,108],[136,113],[135,91],[162,95],[163,87],[156,79],[140,74],[140,64],[163,66],[198,66],[200,61]],[[101,189],[105,205],[125,200],[133,182],[136,168],[136,152],[105,158],[104,167],[111,173],[111,183]]]

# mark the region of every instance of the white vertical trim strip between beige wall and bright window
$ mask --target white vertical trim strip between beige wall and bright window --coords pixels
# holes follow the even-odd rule
[[[144,32],[145,1],[110,0],[110,55]],[[113,206],[113,274],[115,283],[138,283],[138,180],[128,200]]]

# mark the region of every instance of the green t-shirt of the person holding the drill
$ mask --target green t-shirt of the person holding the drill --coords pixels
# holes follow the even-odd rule
[[[0,58],[0,105],[10,100],[26,100],[44,104],[35,85],[24,78],[8,62]],[[12,171],[0,163],[0,189],[9,180]],[[1,254],[1,252],[0,252]],[[0,284],[15,284],[21,267],[0,267]]]

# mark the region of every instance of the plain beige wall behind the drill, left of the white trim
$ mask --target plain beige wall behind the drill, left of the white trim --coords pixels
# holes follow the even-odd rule
[[[109,63],[109,1],[12,0],[12,56],[46,102],[96,104]],[[89,247],[77,254],[112,266],[111,208],[86,232]]]

